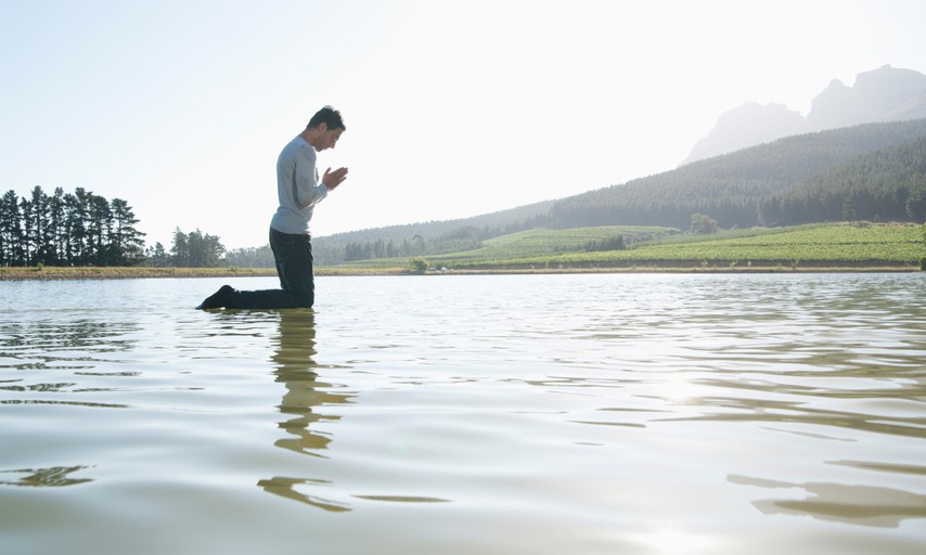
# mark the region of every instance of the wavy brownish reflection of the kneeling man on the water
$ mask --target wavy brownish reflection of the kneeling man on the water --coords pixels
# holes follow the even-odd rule
[[[319,422],[336,421],[338,416],[324,415],[316,409],[324,404],[349,402],[349,395],[331,392],[331,384],[318,380],[316,362],[316,322],[314,312],[304,309],[280,310],[280,332],[275,338],[274,353],[271,357],[276,365],[276,382],[286,387],[280,412],[290,416],[280,422],[288,437],[281,438],[276,447],[296,453],[324,457],[332,438],[329,434],[314,429]],[[298,487],[312,488],[330,485],[327,480],[290,478],[278,476],[260,480],[258,486],[270,493],[307,503],[326,511],[349,511],[342,503],[301,493]]]

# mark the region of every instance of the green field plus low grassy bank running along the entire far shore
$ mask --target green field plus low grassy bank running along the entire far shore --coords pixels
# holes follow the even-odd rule
[[[625,250],[588,251],[622,235]],[[429,256],[449,272],[593,271],[916,271],[926,258],[924,228],[913,224],[810,224],[729,230],[712,235],[667,228],[535,229],[494,237],[481,248]],[[319,267],[317,275],[408,273],[407,258]],[[272,268],[0,268],[2,280],[275,276]]]

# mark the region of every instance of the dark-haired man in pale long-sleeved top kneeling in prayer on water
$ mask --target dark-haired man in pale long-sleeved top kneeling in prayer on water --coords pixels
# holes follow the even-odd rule
[[[280,206],[270,220],[270,249],[276,261],[281,288],[236,291],[222,285],[197,309],[311,308],[316,294],[309,220],[314,205],[347,179],[347,168],[334,171],[329,168],[319,182],[316,159],[319,152],[334,149],[345,130],[340,112],[325,106],[312,116],[306,129],[283,149],[276,160]]]

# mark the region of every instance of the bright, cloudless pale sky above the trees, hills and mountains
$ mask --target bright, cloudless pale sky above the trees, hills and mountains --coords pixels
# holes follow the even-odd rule
[[[926,73],[922,0],[0,0],[0,193],[126,201],[145,243],[267,244],[323,105],[349,169],[313,236],[668,171],[746,102]]]

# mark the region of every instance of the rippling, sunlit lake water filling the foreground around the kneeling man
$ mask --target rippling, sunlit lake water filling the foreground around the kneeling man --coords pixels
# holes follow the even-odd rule
[[[926,275],[0,282],[7,554],[926,553]]]

